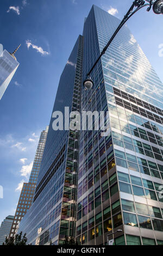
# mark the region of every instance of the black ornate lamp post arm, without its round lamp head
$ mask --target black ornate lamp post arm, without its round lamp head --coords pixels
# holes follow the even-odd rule
[[[149,11],[151,9],[151,7],[152,7],[152,1],[150,1],[150,3],[146,3],[143,0],[135,0],[133,2],[133,4],[131,5],[131,7],[128,10],[127,14],[124,16],[123,20],[121,21],[120,25],[117,27],[115,33],[111,36],[108,44],[106,44],[106,46],[103,48],[100,56],[98,57],[98,59],[96,60],[95,64],[92,66],[91,70],[87,74],[87,77],[90,76],[92,70],[95,68],[95,66],[98,63],[99,59],[101,59],[101,57],[105,54],[105,51],[108,49],[109,45],[111,44],[112,40],[115,38],[117,33],[120,31],[120,29],[123,27],[124,23],[126,23],[130,19],[130,17],[133,16],[137,11],[139,11],[141,8],[146,7],[146,6],[148,6],[147,11]],[[135,7],[136,7],[136,9],[134,10]]]

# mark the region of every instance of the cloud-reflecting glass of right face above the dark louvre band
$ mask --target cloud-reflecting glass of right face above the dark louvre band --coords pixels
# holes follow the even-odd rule
[[[110,36],[112,29],[110,26],[105,33]],[[129,30],[126,34],[126,29],[122,28],[116,36],[117,40],[111,43],[102,57],[104,75],[110,77],[106,77],[105,82],[162,108],[163,85],[136,39]],[[105,40],[103,36],[101,47]]]

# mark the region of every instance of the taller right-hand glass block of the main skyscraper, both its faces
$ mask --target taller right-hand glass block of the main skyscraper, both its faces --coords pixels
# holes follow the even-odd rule
[[[83,79],[120,20],[93,5],[84,25]],[[127,26],[91,73],[82,111],[109,111],[111,133],[81,131],[77,241],[116,245],[163,241],[162,83]],[[105,115],[106,124],[106,115]],[[109,236],[109,240],[112,235]]]

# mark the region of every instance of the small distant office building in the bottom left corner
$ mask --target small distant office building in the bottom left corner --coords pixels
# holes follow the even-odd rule
[[[14,216],[9,215],[1,223],[1,227],[0,227],[0,245],[3,245],[3,243],[5,242],[5,237],[9,236],[13,220],[14,220]]]

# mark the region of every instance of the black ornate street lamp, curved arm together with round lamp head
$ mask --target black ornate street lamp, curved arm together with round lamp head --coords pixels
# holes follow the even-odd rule
[[[148,3],[146,3],[148,2]],[[106,50],[108,49],[109,45],[111,44],[112,40],[115,38],[117,33],[123,27],[123,25],[133,16],[137,11],[142,9],[143,7],[147,7],[147,11],[150,11],[153,6],[153,11],[155,14],[163,14],[163,0],[135,0],[131,5],[130,9],[128,10],[127,14],[124,16],[123,20],[121,21],[120,25],[117,27],[114,34],[111,36],[108,44],[103,48],[100,56],[96,60],[95,64],[92,66],[91,70],[87,73],[86,79],[84,80],[84,87],[85,89],[91,89],[93,87],[93,81],[91,79],[91,72],[95,68],[96,64],[98,63],[99,59],[105,54]]]

